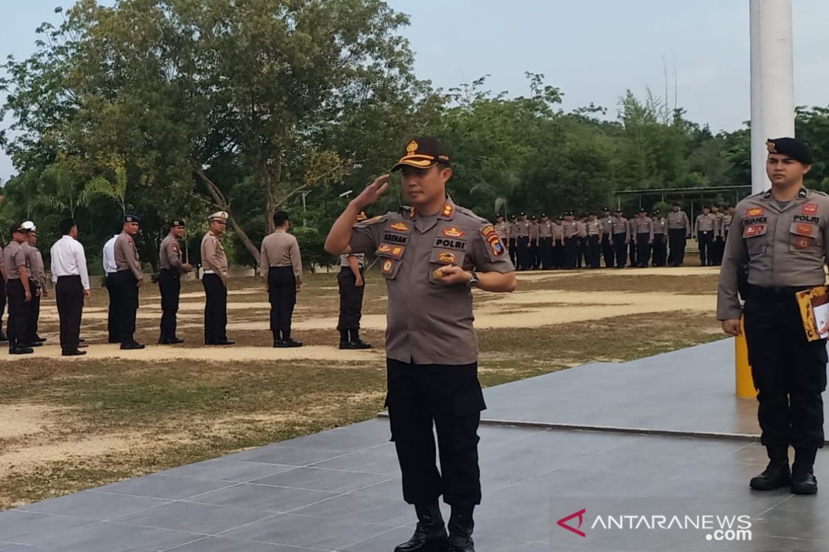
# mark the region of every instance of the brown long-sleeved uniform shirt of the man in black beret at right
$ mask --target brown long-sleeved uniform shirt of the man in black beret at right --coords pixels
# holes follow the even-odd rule
[[[737,204],[725,242],[717,290],[717,319],[739,319],[740,265],[754,286],[823,286],[829,257],[829,196],[802,188],[783,209],[771,190]],[[742,237],[740,239],[740,237]]]

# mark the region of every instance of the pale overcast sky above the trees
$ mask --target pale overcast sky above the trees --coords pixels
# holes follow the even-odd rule
[[[487,87],[527,94],[525,71],[561,89],[563,108],[616,113],[626,89],[668,95],[711,130],[749,119],[749,0],[387,0],[411,16],[416,74],[448,88],[489,74]],[[112,3],[104,2],[104,3]],[[61,0],[2,1],[0,55],[32,53],[35,28]],[[793,0],[794,94],[829,104],[829,2]],[[0,154],[0,179],[14,173]]]

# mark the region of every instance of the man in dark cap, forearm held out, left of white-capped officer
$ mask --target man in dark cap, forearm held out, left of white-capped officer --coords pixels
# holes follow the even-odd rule
[[[161,291],[161,334],[158,343],[172,345],[184,343],[176,335],[178,297],[182,292],[182,274],[187,274],[193,266],[182,259],[182,247],[178,240],[184,238],[184,221],[175,219],[170,222],[170,232],[161,242],[158,252],[158,290]]]

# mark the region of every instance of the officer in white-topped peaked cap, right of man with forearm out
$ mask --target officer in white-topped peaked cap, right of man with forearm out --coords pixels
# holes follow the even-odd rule
[[[205,288],[205,345],[233,345],[227,338],[227,256],[219,236],[227,228],[230,215],[216,211],[208,220],[208,231],[201,238],[201,286]]]

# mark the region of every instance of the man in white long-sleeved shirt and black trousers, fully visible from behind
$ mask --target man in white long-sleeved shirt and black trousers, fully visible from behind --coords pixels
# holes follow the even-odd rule
[[[57,312],[61,319],[63,356],[86,354],[78,350],[80,314],[84,300],[90,298],[90,275],[86,271],[84,246],[77,240],[78,227],[71,218],[61,221],[61,234],[51,248],[52,281],[55,282]]]

